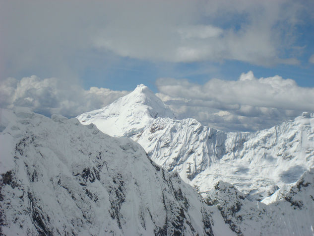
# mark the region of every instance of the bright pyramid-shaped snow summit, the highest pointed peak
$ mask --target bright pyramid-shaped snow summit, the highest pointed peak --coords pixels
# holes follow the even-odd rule
[[[111,136],[132,137],[157,117],[175,116],[148,87],[140,84],[134,91],[110,105],[83,113],[77,119],[82,124],[93,123]]]

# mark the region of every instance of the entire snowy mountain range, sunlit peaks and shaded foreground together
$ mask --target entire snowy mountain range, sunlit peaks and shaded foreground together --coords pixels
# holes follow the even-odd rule
[[[0,235],[314,235],[313,114],[227,133],[141,84],[77,119],[0,117]]]

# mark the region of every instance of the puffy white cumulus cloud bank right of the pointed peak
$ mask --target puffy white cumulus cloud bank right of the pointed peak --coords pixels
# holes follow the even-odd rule
[[[314,88],[300,87],[280,76],[255,78],[243,73],[236,81],[211,79],[205,84],[158,79],[158,96],[179,118],[193,117],[223,130],[252,131],[314,112]]]

